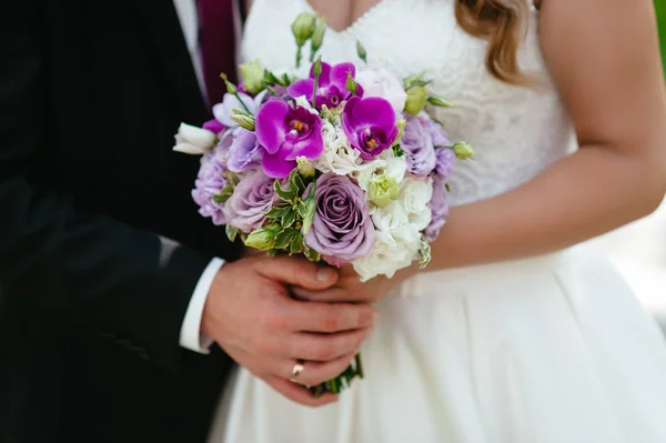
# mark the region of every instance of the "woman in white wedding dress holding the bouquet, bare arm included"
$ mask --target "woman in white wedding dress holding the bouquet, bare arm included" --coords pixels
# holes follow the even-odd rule
[[[365,379],[307,409],[241,369],[212,442],[666,442],[666,345],[587,239],[654,211],[666,105],[652,0],[254,0],[244,60],[322,56],[427,70],[437,118],[476,160],[427,271],[302,298],[377,303]],[[576,245],[578,244],[578,245]],[[307,372],[309,362],[303,364]]]

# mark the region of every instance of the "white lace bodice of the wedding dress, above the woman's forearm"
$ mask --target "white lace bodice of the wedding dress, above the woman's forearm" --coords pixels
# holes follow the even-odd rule
[[[573,129],[541,56],[536,11],[519,50],[524,70],[538,87],[513,87],[485,69],[486,42],[456,22],[455,0],[381,0],[347,29],[326,31],[321,53],[336,63],[362,63],[356,40],[370,63],[382,62],[405,77],[422,70],[432,90],[454,108],[437,109],[450,139],[468,141],[474,161],[461,162],[451,179],[453,204],[463,204],[515,188],[573,147]],[[254,0],[241,43],[243,60],[260,59],[269,69],[293,69],[295,43],[290,24],[311,11],[306,0]],[[307,60],[307,51],[304,59]],[[307,64],[307,63],[304,63]]]

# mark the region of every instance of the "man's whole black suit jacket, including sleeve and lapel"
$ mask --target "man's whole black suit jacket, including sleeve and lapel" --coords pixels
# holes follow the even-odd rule
[[[171,151],[209,118],[172,1],[3,1],[0,51],[0,441],[204,441],[232,362],[179,333],[235,252]]]

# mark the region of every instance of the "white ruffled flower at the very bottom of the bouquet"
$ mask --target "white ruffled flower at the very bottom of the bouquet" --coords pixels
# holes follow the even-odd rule
[[[363,282],[381,274],[391,279],[395,272],[412,264],[417,253],[418,242],[412,244],[402,239],[396,240],[386,232],[375,231],[370,254],[354,260],[352,264]]]

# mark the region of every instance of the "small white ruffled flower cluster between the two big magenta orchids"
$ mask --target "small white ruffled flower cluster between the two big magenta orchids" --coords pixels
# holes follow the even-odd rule
[[[324,152],[314,161],[317,170],[324,173],[350,175],[366,167],[361,159],[361,152],[350,147],[342,128],[333,125],[327,120],[322,120],[322,135]]]

